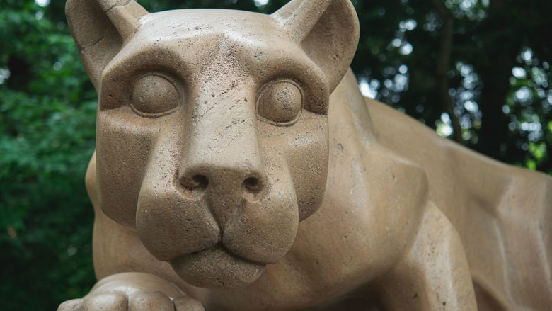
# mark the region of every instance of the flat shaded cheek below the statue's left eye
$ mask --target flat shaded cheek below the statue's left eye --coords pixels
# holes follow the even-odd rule
[[[158,131],[151,120],[137,118],[127,107],[98,112],[96,170],[100,206],[105,215],[121,225],[136,226],[139,189]]]

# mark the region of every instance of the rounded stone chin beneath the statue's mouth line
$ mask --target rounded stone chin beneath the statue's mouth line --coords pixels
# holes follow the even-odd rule
[[[170,261],[183,281],[201,288],[239,288],[257,280],[265,264],[241,259],[220,245]]]

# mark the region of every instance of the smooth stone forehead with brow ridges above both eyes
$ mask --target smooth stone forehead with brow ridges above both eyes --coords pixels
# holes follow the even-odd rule
[[[270,16],[231,13],[197,9],[148,14],[104,74],[120,76],[161,67],[187,79],[205,72],[257,81],[282,75],[306,81],[323,77],[301,46]]]

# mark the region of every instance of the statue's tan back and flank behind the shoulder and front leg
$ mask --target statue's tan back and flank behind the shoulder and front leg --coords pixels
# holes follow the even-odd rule
[[[376,101],[367,106],[375,139],[425,169],[430,200],[461,236],[480,309],[546,310],[552,303],[552,179],[445,140]]]

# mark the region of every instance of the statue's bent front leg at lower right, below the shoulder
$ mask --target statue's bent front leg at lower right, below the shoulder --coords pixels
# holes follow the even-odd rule
[[[410,251],[379,279],[376,291],[386,310],[477,310],[460,237],[432,203]]]

